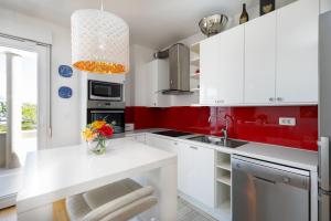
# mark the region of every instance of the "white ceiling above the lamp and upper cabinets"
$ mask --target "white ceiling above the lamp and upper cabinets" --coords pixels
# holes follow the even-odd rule
[[[105,10],[125,19],[131,42],[162,49],[197,33],[201,18],[236,14],[256,0],[104,0]],[[76,9],[99,8],[100,0],[1,0],[0,6],[70,27]]]

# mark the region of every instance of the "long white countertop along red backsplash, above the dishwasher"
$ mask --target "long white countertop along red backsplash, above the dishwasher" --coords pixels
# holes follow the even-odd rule
[[[158,128],[158,130],[160,130],[160,128]],[[161,135],[153,135],[153,136],[160,136],[172,140],[189,143],[195,146],[213,148],[215,150],[227,152],[227,154],[235,154],[245,157],[256,158],[256,159],[276,162],[276,164],[305,169],[309,171],[314,171],[314,172],[318,171],[317,151],[309,151],[309,150],[302,150],[298,148],[260,144],[260,143],[249,143],[249,141],[248,144],[237,148],[228,148],[228,147],[221,147],[212,144],[204,144],[204,143],[186,139],[189,137],[196,136],[196,135],[189,135],[189,136],[178,137],[178,138],[166,137]]]

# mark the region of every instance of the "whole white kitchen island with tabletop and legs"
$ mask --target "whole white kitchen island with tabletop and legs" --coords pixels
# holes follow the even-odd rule
[[[52,203],[124,178],[142,176],[159,199],[150,218],[177,219],[177,155],[145,144],[118,138],[102,156],[86,145],[28,154],[19,191],[18,219],[52,220]]]

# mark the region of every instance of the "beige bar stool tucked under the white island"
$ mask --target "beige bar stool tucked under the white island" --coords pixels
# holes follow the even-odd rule
[[[71,221],[127,221],[157,204],[151,186],[124,179],[105,187],[68,197]]]

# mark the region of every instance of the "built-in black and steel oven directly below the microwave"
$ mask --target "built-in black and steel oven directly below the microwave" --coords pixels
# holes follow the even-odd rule
[[[125,103],[124,102],[87,102],[87,124],[97,119],[105,119],[114,126],[114,134],[125,133]]]

